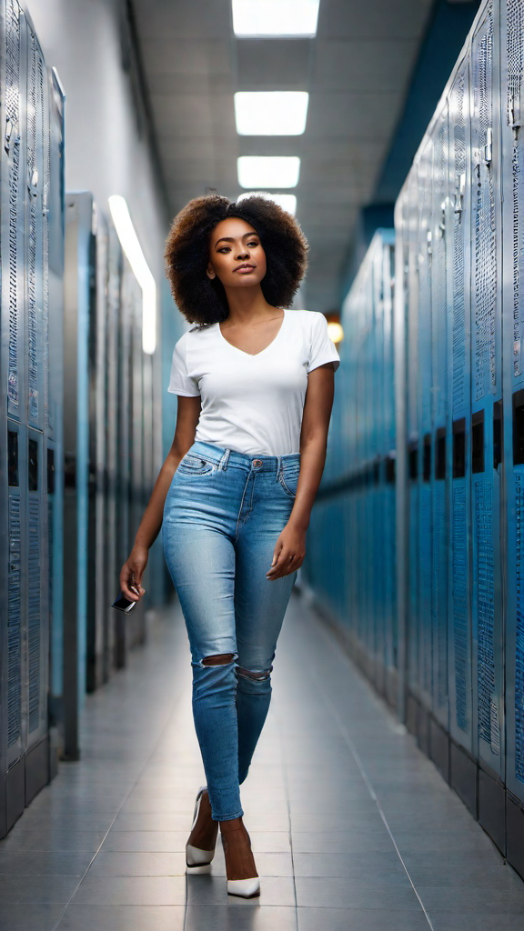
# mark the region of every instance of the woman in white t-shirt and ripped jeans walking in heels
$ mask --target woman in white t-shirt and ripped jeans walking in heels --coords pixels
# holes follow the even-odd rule
[[[186,619],[207,778],[186,845],[209,872],[218,825],[228,893],[259,895],[240,785],[266,720],[283,615],[324,469],[338,354],[322,314],[289,311],[307,266],[294,218],[262,196],[205,196],[172,224],[167,273],[190,323],[174,347],[172,448],[120,585],[144,595],[163,545]]]

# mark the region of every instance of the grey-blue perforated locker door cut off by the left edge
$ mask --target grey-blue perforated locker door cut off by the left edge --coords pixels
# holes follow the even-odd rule
[[[27,738],[27,430],[25,407],[25,158],[27,24],[16,0],[1,5],[2,798],[8,830],[25,804]],[[6,418],[7,414],[7,418]]]

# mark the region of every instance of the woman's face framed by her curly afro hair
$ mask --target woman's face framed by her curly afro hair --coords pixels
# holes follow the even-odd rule
[[[225,288],[258,285],[266,275],[266,253],[250,223],[229,217],[211,234],[207,275]]]

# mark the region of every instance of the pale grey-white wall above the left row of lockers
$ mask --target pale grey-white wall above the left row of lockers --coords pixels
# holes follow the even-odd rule
[[[120,0],[26,0],[25,7],[66,94],[66,190],[91,191],[104,210],[111,194],[126,198],[159,284],[165,214],[122,67]]]

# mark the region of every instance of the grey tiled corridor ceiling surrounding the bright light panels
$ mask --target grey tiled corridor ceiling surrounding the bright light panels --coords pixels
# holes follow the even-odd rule
[[[229,0],[133,0],[172,212],[208,188],[235,198],[239,155],[299,155],[296,217],[310,241],[302,305],[338,306],[432,0],[321,0],[314,39],[237,39]],[[302,136],[238,136],[236,90],[308,90]]]

